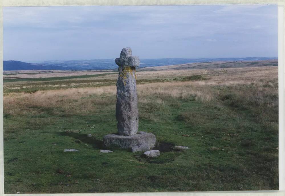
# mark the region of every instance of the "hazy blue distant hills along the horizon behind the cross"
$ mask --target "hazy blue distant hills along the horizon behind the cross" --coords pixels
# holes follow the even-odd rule
[[[269,57],[247,57],[247,58],[158,58],[141,59],[140,67],[165,66],[187,64],[194,62],[219,62],[219,61],[258,61],[276,60]],[[93,59],[93,60],[56,60],[43,61],[38,63],[21,62],[17,60],[4,60],[4,70],[104,70],[116,69],[114,59]]]

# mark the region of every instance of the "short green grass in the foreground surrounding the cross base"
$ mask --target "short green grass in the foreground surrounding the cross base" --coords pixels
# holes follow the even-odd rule
[[[267,85],[278,88],[276,81]],[[4,110],[5,194],[278,189],[278,128],[265,126],[278,125],[276,108],[266,105],[278,96],[265,97],[263,106],[235,94],[254,93],[254,85],[213,90],[219,96],[208,103],[195,97],[139,103],[139,131],[155,134],[160,143],[190,147],[161,152],[157,159],[122,149],[99,152],[103,136],[117,131],[115,97],[108,94],[102,95],[104,105],[94,103],[93,113],[69,114],[60,106],[22,115]],[[79,151],[64,153],[67,148]]]

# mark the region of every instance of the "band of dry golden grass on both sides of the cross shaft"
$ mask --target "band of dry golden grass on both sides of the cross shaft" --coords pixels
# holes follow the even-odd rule
[[[275,71],[275,70],[273,70]],[[232,96],[252,105],[262,106],[268,103],[268,95],[278,96],[278,89],[268,88],[275,85],[274,81],[245,78],[237,81],[241,75],[234,75],[231,72],[232,80],[217,80],[217,77],[203,81],[186,82],[156,82],[137,85],[139,104],[162,105],[165,99],[189,100],[195,99],[198,102],[210,103],[219,100],[224,92],[213,88],[214,86],[231,86],[233,88]],[[165,73],[164,73],[165,74]],[[266,72],[267,74],[267,72]],[[271,72],[274,75],[274,72]],[[262,75],[264,78],[264,75]],[[269,77],[269,76],[268,76]],[[221,77],[219,77],[221,78]],[[246,79],[246,80],[245,80]],[[276,81],[275,81],[276,82]],[[252,84],[255,88],[248,90],[239,88],[239,85]],[[264,85],[267,85],[264,87]],[[32,94],[10,93],[4,96],[4,111],[11,115],[20,115],[25,113],[40,113],[38,108],[53,108],[54,112],[65,112],[68,114],[87,114],[96,111],[98,106],[115,107],[116,86],[103,86],[97,88],[69,88],[60,90],[38,91]],[[278,102],[270,102],[271,106],[277,107]]]

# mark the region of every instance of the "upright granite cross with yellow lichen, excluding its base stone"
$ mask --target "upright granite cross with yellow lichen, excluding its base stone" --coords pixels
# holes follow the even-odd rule
[[[131,48],[123,48],[120,58],[115,59],[119,66],[117,81],[116,119],[119,135],[131,136],[139,129],[137,102],[136,67],[139,56],[132,56]]]

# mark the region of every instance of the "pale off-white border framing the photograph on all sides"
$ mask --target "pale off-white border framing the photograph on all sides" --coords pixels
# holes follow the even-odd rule
[[[3,7],[8,6],[88,6],[88,5],[278,5],[278,97],[279,97],[279,190],[272,191],[196,191],[196,192],[140,192],[140,193],[56,193],[56,194],[21,194],[21,195],[54,195],[54,196],[91,196],[91,195],[284,195],[285,194],[285,1],[284,0],[1,0],[0,1],[0,196],[14,196],[18,194],[4,194],[4,155],[3,155]]]

